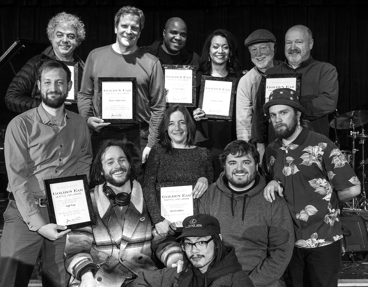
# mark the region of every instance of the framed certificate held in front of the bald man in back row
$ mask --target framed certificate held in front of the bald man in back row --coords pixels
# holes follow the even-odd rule
[[[165,78],[166,105],[182,104],[195,107],[195,67],[181,65],[162,65]]]

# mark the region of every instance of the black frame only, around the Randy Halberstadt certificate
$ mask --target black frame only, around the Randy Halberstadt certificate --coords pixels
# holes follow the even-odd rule
[[[103,119],[106,123],[136,123],[137,121],[137,78],[136,77],[98,77],[98,107],[97,117],[102,118],[102,82],[132,82],[132,105],[131,119]]]

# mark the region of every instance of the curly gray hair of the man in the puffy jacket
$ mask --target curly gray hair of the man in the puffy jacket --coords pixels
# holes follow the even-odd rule
[[[75,35],[77,46],[79,46],[79,44],[85,39],[86,30],[84,29],[84,24],[76,15],[69,14],[67,12],[61,12],[50,19],[49,24],[47,25],[47,36],[49,37],[51,43],[54,37],[54,30],[56,26],[72,26],[77,33],[77,35]]]

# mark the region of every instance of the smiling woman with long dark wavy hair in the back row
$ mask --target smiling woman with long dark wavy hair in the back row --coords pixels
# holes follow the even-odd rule
[[[227,30],[219,29],[207,37],[199,61],[199,71],[202,72],[203,76],[236,78],[236,92],[242,73],[238,60],[238,43],[233,34]],[[200,147],[208,148],[211,151],[215,163],[215,180],[223,171],[219,155],[227,144],[236,140],[235,107],[236,97],[234,98],[231,121],[208,120],[201,108],[193,111],[194,120],[198,122],[197,135],[202,134],[203,136],[202,139],[196,136],[196,141],[197,143],[201,142]]]

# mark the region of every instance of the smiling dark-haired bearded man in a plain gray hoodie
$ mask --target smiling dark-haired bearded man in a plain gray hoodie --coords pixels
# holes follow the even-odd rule
[[[224,167],[200,199],[199,212],[215,216],[226,245],[255,286],[286,286],[281,278],[294,247],[294,229],[284,198],[265,202],[266,183],[257,172],[259,153],[244,140],[229,143],[220,155]]]

